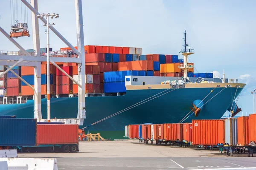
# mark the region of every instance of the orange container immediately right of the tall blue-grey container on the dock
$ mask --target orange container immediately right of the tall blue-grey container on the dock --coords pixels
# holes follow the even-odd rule
[[[249,140],[249,116],[237,118],[237,142],[239,145],[250,143]]]

